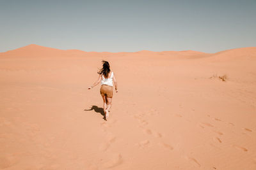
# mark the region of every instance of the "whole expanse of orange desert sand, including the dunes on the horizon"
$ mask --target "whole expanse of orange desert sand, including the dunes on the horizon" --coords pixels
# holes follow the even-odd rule
[[[98,78],[118,81],[108,121]],[[256,169],[256,47],[0,53],[0,169]]]

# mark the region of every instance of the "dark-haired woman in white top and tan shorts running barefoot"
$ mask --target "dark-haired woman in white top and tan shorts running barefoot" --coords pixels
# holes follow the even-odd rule
[[[110,66],[108,61],[102,60],[103,66],[102,69],[99,70],[99,78],[98,80],[93,83],[91,87],[88,89],[92,89],[96,85],[100,83],[100,95],[103,99],[103,109],[104,109],[104,118],[108,118],[109,116],[109,109],[111,108],[111,102],[113,97],[113,81],[115,83],[115,90],[117,92],[117,81],[115,78],[115,74],[113,71],[110,71]]]

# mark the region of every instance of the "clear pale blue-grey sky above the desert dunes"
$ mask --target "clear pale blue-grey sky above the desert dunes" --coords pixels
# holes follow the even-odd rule
[[[97,52],[256,46],[256,0],[0,0],[0,52],[29,44]]]

